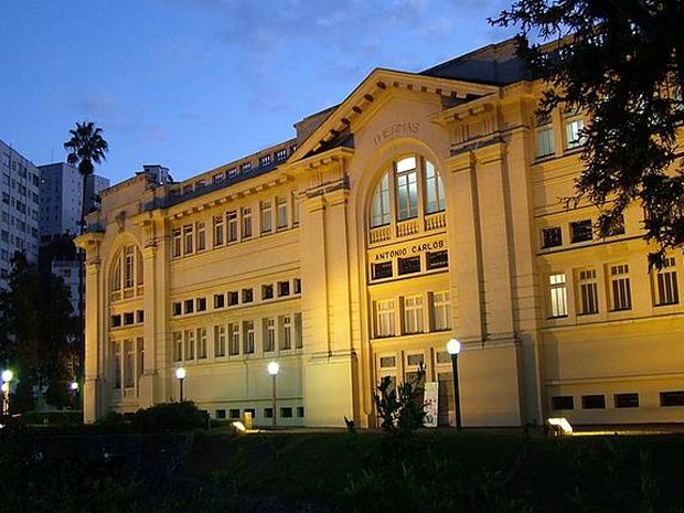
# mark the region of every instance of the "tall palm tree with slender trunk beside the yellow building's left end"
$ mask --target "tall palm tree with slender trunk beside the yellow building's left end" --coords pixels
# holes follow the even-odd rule
[[[103,138],[101,128],[95,127],[92,121],[76,122],[76,128],[68,131],[72,138],[64,143],[64,149],[71,151],[66,157],[66,161],[71,165],[78,168],[78,173],[83,179],[83,191],[81,196],[81,226],[79,233],[83,235],[85,232],[86,221],[85,217],[88,213],[88,205],[86,205],[86,190],[88,177],[95,171],[95,164],[105,160],[105,153],[109,151],[109,145]],[[84,256],[83,253],[77,249],[79,269],[78,269],[78,371],[76,372],[77,380],[81,382],[83,389],[84,378],[84,365],[85,365],[85,325],[84,325],[84,298],[83,298],[83,278],[84,278]]]

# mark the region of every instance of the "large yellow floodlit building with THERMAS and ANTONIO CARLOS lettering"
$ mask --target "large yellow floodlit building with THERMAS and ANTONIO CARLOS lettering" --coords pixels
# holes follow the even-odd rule
[[[217,418],[374,426],[420,363],[453,421],[684,420],[682,255],[649,272],[641,211],[597,239],[566,210],[581,113],[535,116],[511,42],[375,70],[296,138],[182,183],[106,190],[86,265],[86,420],[185,398]]]

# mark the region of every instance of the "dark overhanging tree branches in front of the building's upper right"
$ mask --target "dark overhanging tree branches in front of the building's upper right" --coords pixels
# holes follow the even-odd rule
[[[490,23],[519,28],[519,54],[547,82],[541,111],[583,109],[585,168],[568,204],[599,207],[609,235],[644,210],[651,265],[684,245],[683,0],[515,0]]]

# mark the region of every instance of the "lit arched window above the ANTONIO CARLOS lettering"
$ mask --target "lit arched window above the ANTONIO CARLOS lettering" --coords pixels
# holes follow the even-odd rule
[[[373,194],[371,227],[413,220],[446,207],[441,177],[429,160],[409,154],[392,162]]]

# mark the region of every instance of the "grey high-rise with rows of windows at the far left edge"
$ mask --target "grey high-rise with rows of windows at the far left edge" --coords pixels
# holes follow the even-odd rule
[[[7,288],[15,252],[38,263],[41,179],[33,162],[1,140],[0,156],[0,288]]]

